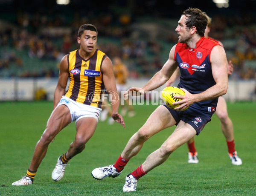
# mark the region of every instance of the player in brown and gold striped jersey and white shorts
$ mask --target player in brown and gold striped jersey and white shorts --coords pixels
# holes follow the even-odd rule
[[[35,151],[26,176],[12,185],[28,185],[33,179],[41,161],[47,153],[50,142],[64,127],[76,121],[76,137],[66,153],[59,156],[52,179],[59,181],[68,161],[81,153],[87,141],[93,136],[102,111],[103,89],[110,95],[116,94],[116,83],[111,60],[102,51],[96,49],[98,32],[91,24],[81,25],[77,42],[80,48],[65,55],[60,63],[58,84],[54,93],[53,111],[47,121],[47,127],[35,146]],[[67,92],[68,78],[70,84]],[[125,127],[122,115],[118,114],[118,97],[111,98],[112,117]]]

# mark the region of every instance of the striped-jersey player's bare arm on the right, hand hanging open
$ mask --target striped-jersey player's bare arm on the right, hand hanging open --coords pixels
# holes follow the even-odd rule
[[[109,91],[109,95],[111,96],[111,107],[112,107],[112,118],[122,124],[123,127],[125,127],[124,120],[122,118],[122,115],[118,114],[118,108],[119,108],[119,99],[118,99],[118,93],[116,90],[116,82],[115,82],[115,76],[113,72],[113,65],[111,60],[107,57],[104,59],[102,63],[102,73],[103,73],[103,82],[105,85],[105,88],[107,91]],[[113,97],[113,92],[116,95],[116,97]]]

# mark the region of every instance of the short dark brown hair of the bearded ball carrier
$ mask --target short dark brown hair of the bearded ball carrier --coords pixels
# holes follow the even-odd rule
[[[188,8],[182,13],[182,15],[187,17],[187,20],[185,21],[186,27],[190,29],[192,26],[195,26],[196,33],[203,37],[208,23],[206,13],[197,8]]]

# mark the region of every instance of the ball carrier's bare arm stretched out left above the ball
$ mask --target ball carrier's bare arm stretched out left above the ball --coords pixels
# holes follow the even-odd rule
[[[137,95],[137,96],[143,95],[145,92],[154,90],[154,89],[158,88],[159,86],[162,86],[163,84],[165,84],[166,81],[169,80],[169,78],[175,72],[175,69],[177,68],[177,63],[174,60],[175,46],[172,47],[172,49],[169,53],[169,58],[166,61],[166,63],[163,65],[162,69],[159,72],[157,72],[148,81],[148,83],[145,84],[145,86],[143,86],[142,88],[132,87],[124,93],[124,96],[128,95],[130,91],[132,92],[132,95]]]

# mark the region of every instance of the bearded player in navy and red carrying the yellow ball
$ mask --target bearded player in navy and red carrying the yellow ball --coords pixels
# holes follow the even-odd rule
[[[179,66],[181,77],[178,87],[185,95],[176,95],[175,98],[182,100],[174,104],[181,105],[175,110],[166,104],[157,107],[140,130],[130,138],[114,164],[92,171],[94,178],[118,176],[148,138],[167,127],[177,125],[161,147],[126,176],[123,191],[136,191],[138,179],[166,161],[178,147],[199,135],[211,121],[215,111],[209,108],[215,108],[218,97],[227,92],[227,57],[221,45],[204,37],[206,26],[207,15],[200,9],[189,8],[182,13],[175,29],[179,35],[178,43],[172,47],[162,69],[142,88],[132,87],[125,92],[126,96],[129,92],[132,95],[143,95],[156,89],[165,84]],[[182,111],[188,106],[187,110]]]

